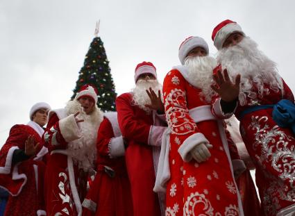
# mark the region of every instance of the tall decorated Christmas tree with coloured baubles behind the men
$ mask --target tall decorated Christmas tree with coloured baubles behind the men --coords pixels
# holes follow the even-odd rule
[[[71,99],[74,99],[76,92],[78,92],[82,85],[92,84],[99,90],[97,106],[103,112],[115,111],[117,94],[112,75],[110,74],[106,50],[103,47],[101,38],[97,36],[98,33],[99,24],[96,24],[95,37],[85,56],[84,65],[79,72],[76,88],[73,90],[74,94]]]

